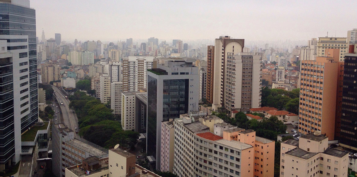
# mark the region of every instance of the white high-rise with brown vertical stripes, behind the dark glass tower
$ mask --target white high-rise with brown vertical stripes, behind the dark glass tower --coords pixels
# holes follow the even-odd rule
[[[155,57],[129,56],[123,58],[123,91],[135,92],[146,89],[147,70],[152,68]]]

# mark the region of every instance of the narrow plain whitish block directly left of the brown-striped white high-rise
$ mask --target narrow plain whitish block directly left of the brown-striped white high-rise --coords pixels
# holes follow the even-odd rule
[[[121,115],[121,93],[123,92],[123,82],[112,82],[111,83],[111,99],[110,108],[115,115]]]

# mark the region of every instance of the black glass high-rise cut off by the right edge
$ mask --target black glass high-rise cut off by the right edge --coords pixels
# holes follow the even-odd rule
[[[343,71],[342,111],[340,145],[357,150],[357,54],[345,54],[345,67]]]

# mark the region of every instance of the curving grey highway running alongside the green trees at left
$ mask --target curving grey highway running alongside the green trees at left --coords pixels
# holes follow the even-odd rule
[[[73,131],[75,131],[75,127],[78,128],[78,118],[77,115],[74,113],[74,110],[69,108],[70,101],[65,98],[65,94],[62,90],[58,89],[57,87],[52,85],[52,89],[56,92],[56,99],[58,103],[63,103],[64,106],[59,106],[62,111],[63,123]],[[57,115],[58,116],[58,115]],[[75,133],[75,137],[79,137],[78,134]]]

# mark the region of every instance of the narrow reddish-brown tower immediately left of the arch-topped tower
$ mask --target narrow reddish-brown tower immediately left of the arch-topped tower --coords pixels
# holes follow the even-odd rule
[[[215,66],[215,46],[207,46],[207,91],[206,99],[209,103],[213,103],[213,81],[214,81],[214,70]]]

